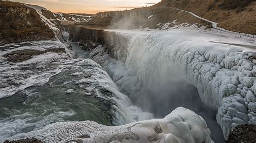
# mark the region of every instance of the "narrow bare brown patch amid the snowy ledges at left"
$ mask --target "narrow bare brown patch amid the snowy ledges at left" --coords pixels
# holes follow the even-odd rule
[[[4,58],[9,62],[22,62],[33,58],[34,55],[40,55],[47,52],[55,52],[55,53],[65,53],[64,48],[53,48],[46,49],[44,51],[39,51],[37,49],[22,49],[17,51],[12,51],[3,55]]]

